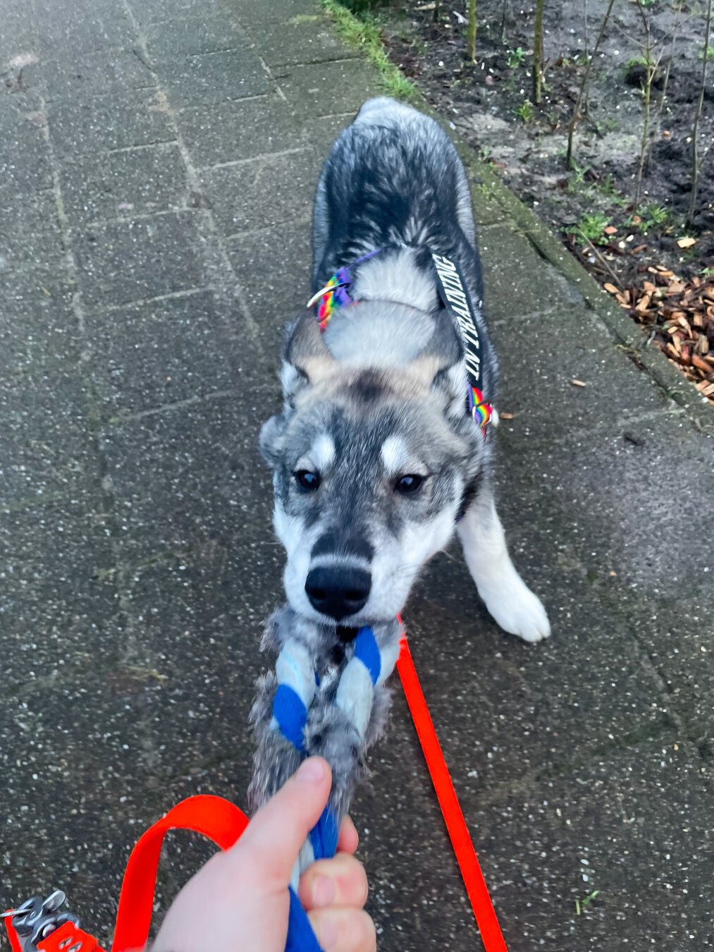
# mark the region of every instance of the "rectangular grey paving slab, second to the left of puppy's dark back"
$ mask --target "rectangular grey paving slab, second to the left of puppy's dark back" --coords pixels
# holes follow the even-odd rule
[[[175,143],[65,159],[60,188],[70,227],[186,208],[186,166]]]

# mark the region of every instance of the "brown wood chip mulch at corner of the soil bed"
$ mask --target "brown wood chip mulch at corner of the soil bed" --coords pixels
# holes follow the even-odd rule
[[[667,268],[648,267],[629,288],[604,288],[650,329],[652,345],[714,403],[714,278],[684,282]]]

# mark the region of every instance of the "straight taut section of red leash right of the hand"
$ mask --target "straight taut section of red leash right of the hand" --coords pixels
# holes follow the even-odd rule
[[[434,784],[436,798],[442,810],[446,823],[446,830],[451,840],[456,859],[464,879],[468,899],[471,902],[476,924],[479,927],[481,938],[486,952],[506,952],[506,942],[498,924],[493,903],[488,895],[488,887],[484,874],[481,871],[476,850],[473,848],[466,820],[462,813],[454,785],[444,760],[444,753],[436,736],[434,724],[426,706],[424,691],[419,684],[419,677],[407,645],[407,638],[403,635],[400,644],[397,671],[404,688],[409,713],[416,728],[419,743],[422,745],[426,767]]]

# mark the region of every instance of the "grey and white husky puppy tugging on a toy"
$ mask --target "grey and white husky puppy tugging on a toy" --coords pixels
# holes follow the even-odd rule
[[[492,402],[466,171],[432,119],[387,98],[360,109],[322,171],[313,254],[316,292],[351,266],[350,302],[323,327],[310,310],[288,329],[283,411],[261,433],[289,604],[323,625],[393,619],[456,530],[496,622],[547,637],[544,607],[508,556],[492,433],[466,412],[465,341],[438,292],[433,254],[463,274]]]

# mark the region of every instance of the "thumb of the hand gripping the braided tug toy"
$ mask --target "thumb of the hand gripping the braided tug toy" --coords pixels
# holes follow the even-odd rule
[[[288,886],[300,847],[327,803],[331,778],[327,761],[309,757],[248,823],[241,853],[264,888]]]

